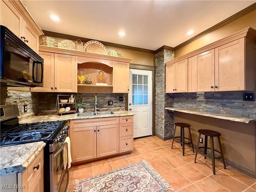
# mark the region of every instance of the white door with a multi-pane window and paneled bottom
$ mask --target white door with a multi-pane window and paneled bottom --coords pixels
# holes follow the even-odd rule
[[[152,71],[130,69],[128,110],[135,114],[133,137],[152,135]]]

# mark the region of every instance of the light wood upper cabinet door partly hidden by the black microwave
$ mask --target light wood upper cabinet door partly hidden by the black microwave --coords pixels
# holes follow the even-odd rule
[[[44,59],[43,87],[31,88],[31,92],[54,92],[54,53],[39,52]]]

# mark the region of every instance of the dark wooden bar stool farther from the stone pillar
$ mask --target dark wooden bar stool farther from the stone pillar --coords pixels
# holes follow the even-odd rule
[[[223,156],[223,152],[222,152],[222,147],[221,147],[221,143],[220,143],[220,135],[221,134],[219,132],[208,130],[208,129],[200,129],[200,130],[198,130],[198,133],[199,133],[199,136],[198,136],[198,142],[197,142],[197,148],[196,148],[196,156],[197,156],[197,153],[199,152],[200,154],[202,154],[204,156],[205,159],[206,159],[206,157],[209,157],[212,159],[212,171],[213,171],[214,175],[215,175],[215,159],[222,159],[223,164],[224,164],[224,169],[226,169],[224,156]],[[204,146],[203,147],[199,147],[199,141],[200,141],[201,134],[204,135]],[[207,140],[208,136],[210,136],[210,147],[208,147],[208,140]],[[217,151],[216,149],[214,149],[213,137],[218,137],[220,151]],[[203,148],[204,150],[200,151],[199,150],[200,148]],[[211,150],[211,154],[207,154],[207,149]],[[217,152],[218,154],[220,154],[220,156],[215,156],[214,152]],[[195,163],[196,163],[196,156],[195,156]]]

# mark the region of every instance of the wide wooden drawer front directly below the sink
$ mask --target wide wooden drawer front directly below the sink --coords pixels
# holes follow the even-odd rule
[[[70,128],[119,124],[118,117],[70,120]]]

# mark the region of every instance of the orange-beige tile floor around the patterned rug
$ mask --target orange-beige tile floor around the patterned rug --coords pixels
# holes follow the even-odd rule
[[[180,144],[172,140],[163,141],[156,136],[134,140],[132,153],[106,158],[70,168],[71,192],[74,180],[82,180],[104,172],[115,170],[130,164],[149,162],[154,169],[174,188],[176,192],[256,192],[256,179],[228,166],[226,170],[221,162],[216,161],[216,175],[212,174],[210,159],[194,155],[190,146],[185,146],[182,156]],[[171,190],[168,190],[168,192]]]

